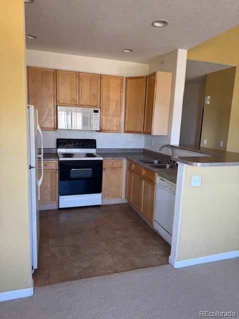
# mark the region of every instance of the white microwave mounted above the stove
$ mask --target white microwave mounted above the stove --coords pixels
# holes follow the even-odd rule
[[[57,128],[100,131],[100,109],[57,106]]]

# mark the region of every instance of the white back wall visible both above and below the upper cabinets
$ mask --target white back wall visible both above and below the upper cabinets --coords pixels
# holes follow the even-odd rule
[[[92,58],[37,50],[26,50],[26,64],[30,66],[65,69],[120,76],[148,74],[148,64]],[[124,81],[125,85],[125,81]],[[123,90],[124,91],[124,90]],[[123,97],[124,109],[124,97]],[[122,112],[123,119],[123,112]],[[122,125],[123,127],[123,125]],[[144,135],[99,133],[92,131],[58,130],[43,132],[43,147],[55,148],[57,138],[91,138],[97,140],[97,148],[143,148]],[[113,141],[112,141],[113,140]]]

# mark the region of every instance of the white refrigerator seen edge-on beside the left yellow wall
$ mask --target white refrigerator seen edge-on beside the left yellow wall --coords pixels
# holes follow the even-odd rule
[[[39,199],[40,185],[43,179],[42,133],[38,124],[37,110],[27,106],[28,113],[28,165],[29,165],[29,204],[31,228],[31,264],[37,268],[39,246]],[[38,171],[39,170],[39,171]]]

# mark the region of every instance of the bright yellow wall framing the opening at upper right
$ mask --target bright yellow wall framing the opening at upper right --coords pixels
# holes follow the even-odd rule
[[[188,50],[188,59],[237,66],[227,150],[239,152],[239,26]]]

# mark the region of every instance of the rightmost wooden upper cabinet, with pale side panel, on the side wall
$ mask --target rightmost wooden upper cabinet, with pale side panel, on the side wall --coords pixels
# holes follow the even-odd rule
[[[157,71],[147,76],[144,133],[168,135],[172,73]]]

